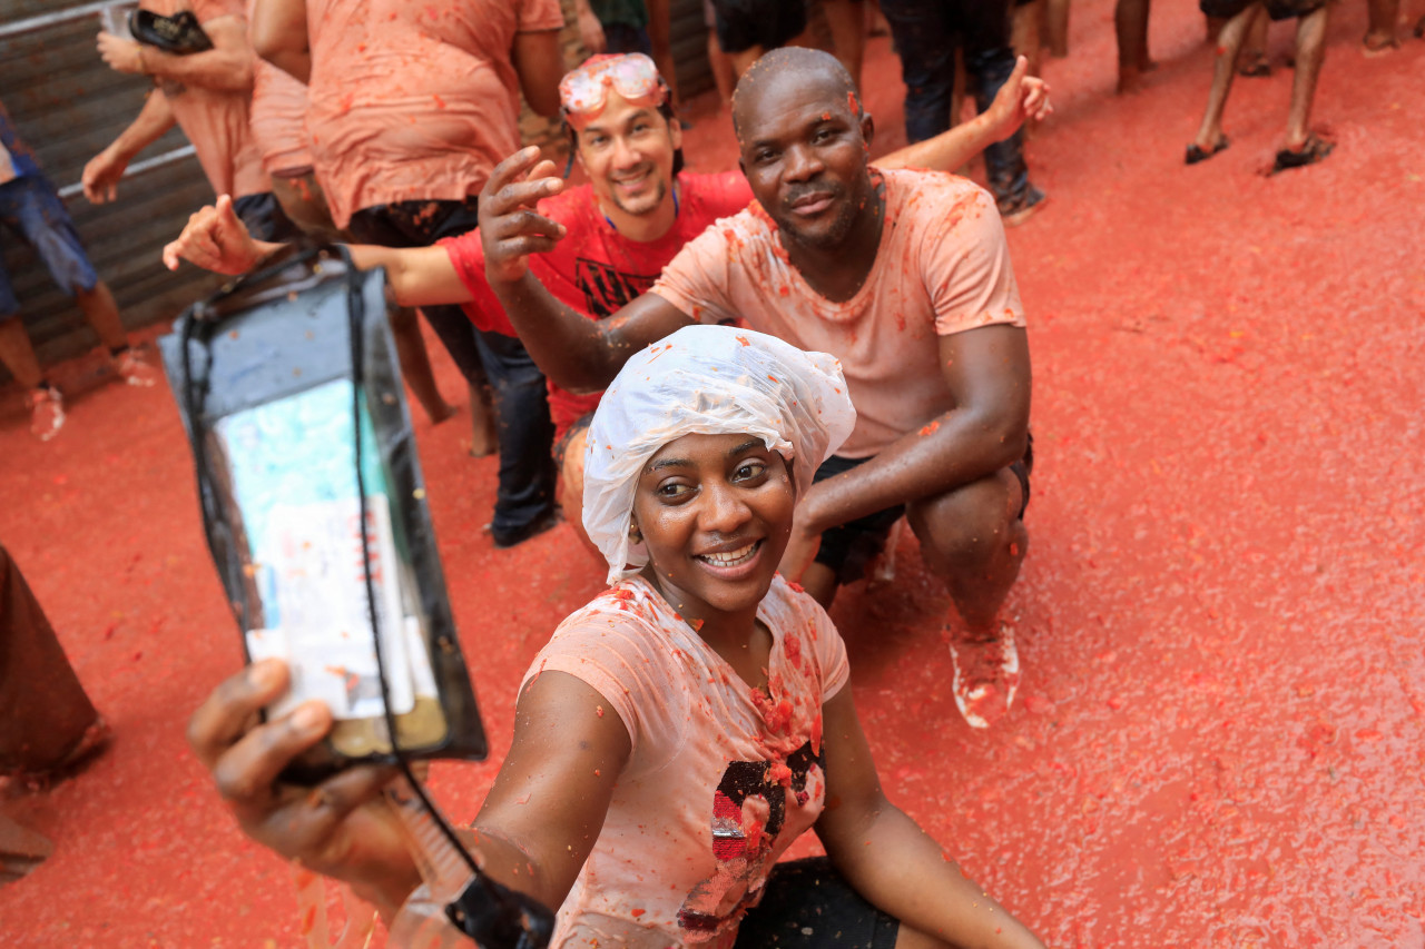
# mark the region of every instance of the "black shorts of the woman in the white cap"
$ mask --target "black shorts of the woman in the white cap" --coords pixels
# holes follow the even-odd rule
[[[772,868],[735,949],[892,949],[901,923],[851,889],[825,856]]]

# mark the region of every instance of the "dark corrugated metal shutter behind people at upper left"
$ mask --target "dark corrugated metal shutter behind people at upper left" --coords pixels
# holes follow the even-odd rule
[[[71,197],[84,162],[138,115],[151,83],[114,73],[98,58],[98,4],[6,0],[3,6],[0,98],[38,152],[48,178],[66,195],[90,259],[118,299],[124,323],[137,328],[175,316],[218,282],[191,266],[170,274],[158,258],[188,215],[212,201],[198,161],[188,155],[125,178],[114,204],[91,205],[81,194]],[[36,28],[31,17],[47,21]],[[187,147],[175,128],[134,164]],[[97,345],[78,308],[56,289],[30,248],[9,231],[0,242],[40,361],[53,363]]]

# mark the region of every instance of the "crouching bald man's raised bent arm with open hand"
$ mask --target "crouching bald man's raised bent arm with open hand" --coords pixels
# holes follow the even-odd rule
[[[657,294],[644,294],[608,319],[594,322],[559,302],[529,272],[529,255],[553,249],[564,228],[539,214],[540,198],[564,181],[524,148],[496,165],[480,192],[484,274],[536,365],[570,392],[607,388],[624,361],[693,319]]]

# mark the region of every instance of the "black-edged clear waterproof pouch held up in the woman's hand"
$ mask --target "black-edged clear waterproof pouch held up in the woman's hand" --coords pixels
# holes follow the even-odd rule
[[[266,714],[319,698],[336,718],[289,777],[483,758],[383,272],[308,251],[192,306],[160,349],[244,651],[291,670]]]

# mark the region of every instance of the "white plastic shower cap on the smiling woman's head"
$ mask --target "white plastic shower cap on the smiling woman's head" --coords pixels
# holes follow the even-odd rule
[[[624,363],[589,426],[584,530],[608,561],[608,583],[648,563],[630,546],[638,476],[684,435],[752,435],[792,463],[798,493],[855,425],[841,363],[775,336],[685,326]]]

